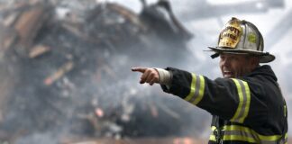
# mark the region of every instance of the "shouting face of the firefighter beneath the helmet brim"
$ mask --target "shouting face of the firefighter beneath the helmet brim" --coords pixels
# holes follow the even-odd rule
[[[240,54],[220,54],[220,68],[224,78],[233,78],[250,73],[259,65],[259,58]]]

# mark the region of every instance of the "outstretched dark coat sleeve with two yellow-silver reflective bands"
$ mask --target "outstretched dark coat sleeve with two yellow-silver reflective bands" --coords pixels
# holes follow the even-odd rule
[[[178,95],[228,121],[243,123],[251,118],[257,121],[267,118],[268,109],[260,85],[236,78],[210,80],[173,67],[167,70],[172,73],[172,81],[169,88],[161,85],[166,93]]]

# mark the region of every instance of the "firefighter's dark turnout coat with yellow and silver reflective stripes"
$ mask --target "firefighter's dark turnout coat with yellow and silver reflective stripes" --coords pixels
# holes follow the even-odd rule
[[[209,143],[287,143],[287,106],[268,65],[237,78],[210,80],[168,67],[175,94],[213,115]]]

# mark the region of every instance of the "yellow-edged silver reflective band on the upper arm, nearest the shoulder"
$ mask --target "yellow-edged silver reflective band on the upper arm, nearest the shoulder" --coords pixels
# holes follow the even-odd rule
[[[243,123],[250,110],[251,92],[249,85],[246,82],[235,78],[233,78],[233,82],[237,88],[239,104],[233,118],[230,121]]]

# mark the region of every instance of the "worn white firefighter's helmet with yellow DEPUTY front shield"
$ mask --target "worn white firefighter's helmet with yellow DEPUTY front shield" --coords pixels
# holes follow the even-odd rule
[[[260,57],[260,63],[268,63],[275,56],[264,52],[264,41],[258,28],[247,21],[232,18],[220,32],[218,45],[209,47],[215,52],[212,58],[220,53],[249,54]]]

